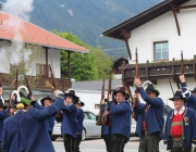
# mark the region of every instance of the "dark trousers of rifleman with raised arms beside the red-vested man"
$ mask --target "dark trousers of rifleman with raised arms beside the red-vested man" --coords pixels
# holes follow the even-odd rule
[[[159,132],[142,136],[138,152],[159,152]]]

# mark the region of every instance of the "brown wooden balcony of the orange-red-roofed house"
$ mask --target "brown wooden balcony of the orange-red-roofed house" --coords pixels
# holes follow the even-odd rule
[[[36,76],[26,76],[28,84],[30,86],[30,89],[51,89],[46,86],[46,81],[51,83],[51,78],[48,77],[36,77]],[[0,73],[0,81],[2,86],[10,87],[12,81],[14,80],[13,77],[11,77],[9,74]],[[66,90],[72,87],[72,83],[69,79],[63,78],[56,78],[57,88],[60,90]],[[25,80],[19,80],[19,85],[26,86]]]

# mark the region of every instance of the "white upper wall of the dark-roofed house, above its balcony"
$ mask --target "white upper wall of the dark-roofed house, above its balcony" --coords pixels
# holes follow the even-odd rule
[[[192,0],[183,5],[187,4],[196,4],[196,1]],[[164,40],[169,41],[170,61],[173,58],[180,60],[181,51],[183,51],[184,59],[194,58],[194,54],[196,54],[196,9],[181,10],[176,16],[180,24],[181,36],[177,34],[172,11],[131,31],[131,38],[128,40],[130,48],[132,54],[135,54],[137,48],[139,63],[145,63],[147,60],[152,62],[154,42]]]

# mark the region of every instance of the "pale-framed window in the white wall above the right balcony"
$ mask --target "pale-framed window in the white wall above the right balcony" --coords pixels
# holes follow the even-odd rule
[[[154,60],[169,60],[168,41],[154,42]]]

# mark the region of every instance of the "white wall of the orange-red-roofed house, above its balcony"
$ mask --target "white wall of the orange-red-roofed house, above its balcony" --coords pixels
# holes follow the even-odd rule
[[[0,59],[3,59],[0,61],[0,73],[10,73],[10,61],[9,61],[9,56],[7,55],[7,53],[2,53],[2,49],[7,51],[7,47],[10,46],[9,41],[0,41]],[[2,58],[2,55],[4,55]],[[10,55],[10,54],[9,54]],[[51,60],[52,60],[52,65],[53,65],[53,71],[54,71],[54,76],[56,78],[61,78],[61,68],[60,68],[60,50],[59,49],[53,49],[50,48],[48,50],[48,64],[51,64]],[[45,53],[45,49],[41,48],[40,50],[40,54],[32,62],[30,66],[28,67],[28,72],[27,75],[36,75],[36,64],[46,64],[46,53]]]

